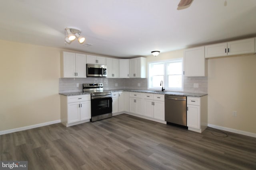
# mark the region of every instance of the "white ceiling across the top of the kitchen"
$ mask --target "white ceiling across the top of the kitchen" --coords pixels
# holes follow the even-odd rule
[[[256,36],[256,0],[5,0],[0,39],[113,57],[134,57]],[[90,47],[64,43],[81,29]]]

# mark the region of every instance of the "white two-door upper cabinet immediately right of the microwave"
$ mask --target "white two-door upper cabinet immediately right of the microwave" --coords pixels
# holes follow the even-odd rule
[[[119,78],[119,59],[106,58],[107,78]]]

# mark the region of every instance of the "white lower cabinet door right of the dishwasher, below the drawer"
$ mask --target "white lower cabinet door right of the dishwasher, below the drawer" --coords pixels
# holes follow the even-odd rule
[[[200,129],[200,106],[187,105],[187,125]]]

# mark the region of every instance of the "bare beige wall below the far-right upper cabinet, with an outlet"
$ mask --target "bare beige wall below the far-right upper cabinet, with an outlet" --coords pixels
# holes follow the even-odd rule
[[[256,55],[208,59],[208,123],[256,133],[255,64]]]

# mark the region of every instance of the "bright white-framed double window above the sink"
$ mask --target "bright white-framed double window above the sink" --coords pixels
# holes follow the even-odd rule
[[[148,64],[148,89],[160,90],[161,80],[166,90],[183,90],[183,59],[158,61]]]

